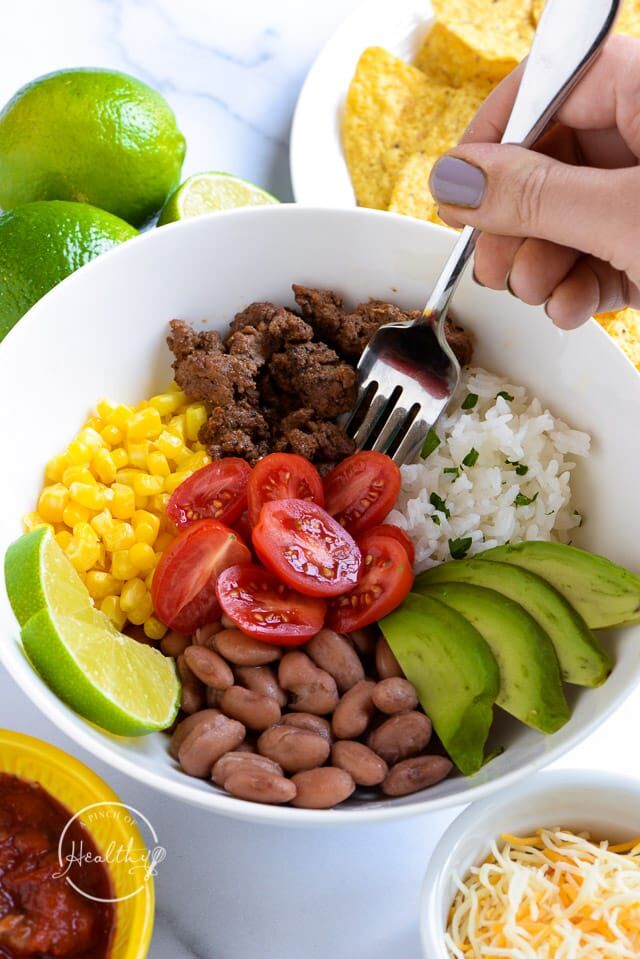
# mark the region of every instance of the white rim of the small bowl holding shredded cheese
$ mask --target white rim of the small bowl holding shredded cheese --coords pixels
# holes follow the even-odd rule
[[[455,848],[472,831],[482,831],[482,823],[488,814],[504,810],[508,821],[509,808],[514,802],[527,799],[532,804],[542,796],[549,796],[569,788],[588,788],[598,792],[602,800],[613,793],[626,792],[640,805],[640,778],[607,770],[585,768],[548,769],[539,772],[533,780],[520,780],[505,789],[500,796],[488,796],[480,802],[470,803],[446,828],[435,846],[420,887],[420,942],[425,959],[449,959],[443,939],[435,930],[440,927],[443,877],[449,868],[449,860]],[[591,807],[590,807],[591,808]],[[532,809],[532,816],[535,810]],[[597,813],[594,815],[597,819]],[[508,824],[505,825],[508,832]],[[434,893],[435,890],[435,893]]]

